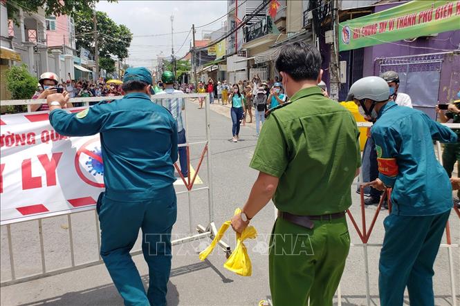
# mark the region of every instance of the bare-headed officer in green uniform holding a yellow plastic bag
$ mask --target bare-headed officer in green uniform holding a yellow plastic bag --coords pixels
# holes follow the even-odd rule
[[[250,166],[259,171],[243,212],[241,232],[268,201],[279,210],[270,239],[270,291],[275,306],[332,305],[349,252],[345,211],[360,167],[353,115],[324,97],[321,55],[303,42],[276,60],[291,97],[271,111]]]

